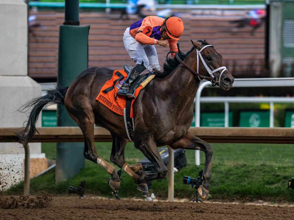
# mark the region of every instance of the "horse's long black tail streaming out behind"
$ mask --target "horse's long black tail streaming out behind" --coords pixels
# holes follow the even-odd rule
[[[34,134],[38,132],[36,129],[36,121],[45,106],[50,106],[52,104],[64,105],[64,98],[68,88],[69,87],[60,87],[59,85],[56,85],[55,89],[50,91],[47,95],[34,98],[19,108],[18,111],[20,112],[28,112],[31,107],[33,107],[30,112],[29,119],[26,121],[27,123],[24,130],[20,133],[16,133],[19,137],[20,143],[26,145],[29,143]]]

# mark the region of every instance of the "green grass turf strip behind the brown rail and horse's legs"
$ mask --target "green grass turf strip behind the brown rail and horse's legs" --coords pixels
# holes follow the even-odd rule
[[[288,201],[294,202],[294,190],[287,187],[289,179],[294,178],[293,147],[294,145],[277,144],[217,144],[213,143],[213,165],[210,181],[210,197],[221,200],[255,201]],[[111,143],[96,143],[101,158],[109,162]],[[55,159],[55,143],[43,143],[42,152],[49,159]],[[134,148],[133,143],[126,147],[125,159],[135,164],[144,155]],[[178,198],[193,198],[195,189],[183,184],[183,176],[197,178],[203,169],[205,155],[201,152],[201,165],[195,165],[195,153],[186,151],[188,165],[175,174],[174,193]],[[116,166],[115,166],[116,167]],[[118,167],[116,170],[118,171]],[[69,185],[78,186],[86,180],[86,194],[109,196],[108,185],[110,175],[99,165],[86,160],[85,167],[73,178],[55,184],[55,170],[33,178],[31,193],[37,194],[44,190],[50,194],[67,194]],[[125,172],[121,175],[120,197],[141,197],[136,184]],[[168,178],[152,181],[150,192],[166,198],[168,195]],[[5,194],[22,194],[23,182],[11,187]]]

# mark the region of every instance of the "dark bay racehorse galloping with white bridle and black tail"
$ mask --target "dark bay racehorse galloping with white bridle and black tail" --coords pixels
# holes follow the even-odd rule
[[[193,70],[198,69],[202,75],[208,75],[207,67],[216,70],[214,77],[219,79],[219,87],[222,90],[230,89],[234,78],[228,70],[222,68],[222,56],[205,40],[201,41],[202,44],[193,41],[192,43],[194,46],[188,53],[178,53],[181,60]],[[206,45],[209,46],[205,47]],[[198,59],[198,52],[203,57],[201,57],[202,62]],[[197,60],[199,60],[198,63]],[[167,175],[167,168],[157,147],[169,145],[172,149],[204,151],[206,156],[204,181],[203,186],[198,188],[198,192],[202,198],[206,199],[211,177],[213,150],[209,143],[188,132],[193,119],[193,101],[200,80],[177,59],[169,58],[163,69],[163,74],[151,80],[139,93],[133,104],[134,146],[155,165],[157,173],[145,173],[141,164],[130,166],[126,163],[124,151],[128,136],[123,116],[114,113],[95,100],[101,87],[112,77],[114,70],[109,68],[89,68],[78,75],[69,87],[57,86],[49,94],[33,99],[22,106],[23,111],[30,107],[33,109],[24,131],[19,134],[20,141],[26,144],[35,134],[35,123],[44,106],[54,103],[63,104],[83,132],[85,158],[107,170],[112,176],[109,182],[112,189],[120,188],[120,180],[114,166],[100,158],[96,151],[94,124],[106,128],[111,133],[113,139],[111,162],[126,171],[136,182],[137,189],[144,192],[148,192],[145,181],[162,179]]]

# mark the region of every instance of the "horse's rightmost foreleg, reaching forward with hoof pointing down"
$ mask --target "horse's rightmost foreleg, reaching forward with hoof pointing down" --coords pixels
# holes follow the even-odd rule
[[[186,133],[183,138],[178,139],[176,142],[169,144],[173,149],[189,149],[189,150],[202,150],[205,153],[205,165],[203,173],[203,186],[198,188],[198,192],[203,199],[206,199],[209,191],[209,180],[211,177],[212,165],[212,148],[211,145],[200,138],[193,136],[191,133]]]

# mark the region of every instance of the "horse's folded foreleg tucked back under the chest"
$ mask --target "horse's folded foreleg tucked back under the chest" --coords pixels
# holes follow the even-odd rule
[[[158,152],[157,146],[153,140],[148,141],[136,141],[134,142],[135,148],[141,150],[141,152],[150,160],[150,162],[156,167],[157,173],[145,173],[142,172],[142,178],[145,181],[163,179],[167,175],[166,165],[163,163],[161,156]]]

